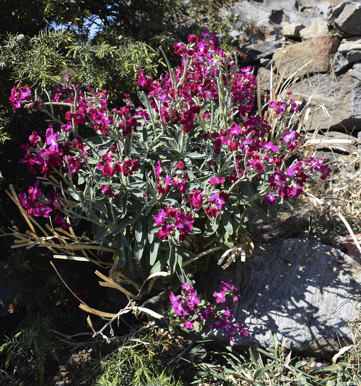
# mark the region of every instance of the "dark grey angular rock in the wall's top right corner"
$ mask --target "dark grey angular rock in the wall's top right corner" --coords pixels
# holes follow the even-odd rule
[[[334,26],[351,35],[361,34],[361,5],[346,0],[334,8],[329,20]]]

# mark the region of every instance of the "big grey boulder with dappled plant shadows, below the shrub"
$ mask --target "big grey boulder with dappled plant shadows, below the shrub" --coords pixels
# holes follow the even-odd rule
[[[237,260],[218,273],[212,283],[231,278],[240,288],[234,315],[250,334],[236,344],[273,347],[273,334],[287,349],[312,353],[352,344],[347,322],[359,305],[355,296],[361,289],[359,259],[317,241],[288,239],[258,244],[245,262]],[[210,288],[209,275],[199,283],[218,290]],[[223,337],[219,330],[203,334],[214,335]]]

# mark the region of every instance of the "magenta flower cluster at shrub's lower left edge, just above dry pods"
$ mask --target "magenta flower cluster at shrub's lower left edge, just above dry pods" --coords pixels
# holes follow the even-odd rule
[[[25,208],[27,216],[46,217],[55,214],[56,209],[65,210],[65,205],[60,200],[57,191],[51,191],[46,196],[39,188],[39,180],[35,181],[34,186],[29,186],[27,193],[19,194],[19,203]],[[54,221],[60,224],[62,228],[69,229],[70,225],[65,221],[64,214],[56,214]]]

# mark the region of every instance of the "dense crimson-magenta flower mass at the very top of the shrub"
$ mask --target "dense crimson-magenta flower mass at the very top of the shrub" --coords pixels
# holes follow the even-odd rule
[[[217,99],[216,78],[220,71],[225,73],[227,67],[235,69],[235,63],[229,61],[226,52],[216,47],[219,42],[214,34],[204,30],[202,37],[203,39],[199,39],[196,35],[190,35],[188,45],[180,42],[174,44],[175,54],[182,56],[182,66],[175,68],[174,80],[169,73],[156,81],[146,76],[142,70],[138,73],[138,85],[149,89],[148,98],[159,113],[160,122],[179,123],[187,133],[193,129],[196,115],[201,113],[201,108],[192,102],[192,97]],[[185,78],[184,66],[187,66]],[[242,117],[253,107],[257,82],[251,70],[251,66],[242,68],[240,73],[229,75],[228,79],[223,75],[224,84],[231,83],[234,76],[231,98]],[[177,85],[172,84],[172,81]],[[203,118],[209,119],[209,114],[204,114]]]

